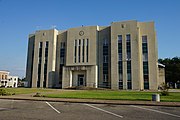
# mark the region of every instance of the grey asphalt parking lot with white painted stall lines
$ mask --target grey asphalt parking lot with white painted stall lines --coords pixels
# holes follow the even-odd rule
[[[180,107],[0,100],[0,120],[180,120]]]

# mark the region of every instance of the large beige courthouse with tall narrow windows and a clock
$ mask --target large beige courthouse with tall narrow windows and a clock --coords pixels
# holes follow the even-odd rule
[[[156,90],[165,79],[154,22],[36,31],[29,35],[26,79],[29,87]]]

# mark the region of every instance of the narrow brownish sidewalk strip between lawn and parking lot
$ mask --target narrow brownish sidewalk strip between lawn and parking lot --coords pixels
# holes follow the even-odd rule
[[[48,102],[90,103],[90,104],[113,104],[113,105],[146,105],[146,106],[169,106],[180,107],[180,102],[153,102],[153,101],[125,101],[125,100],[96,100],[96,99],[66,99],[33,97],[34,94],[21,94],[12,96],[0,96],[0,99],[30,100]]]

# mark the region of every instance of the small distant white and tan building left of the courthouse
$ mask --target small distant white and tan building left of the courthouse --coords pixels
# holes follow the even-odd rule
[[[0,87],[17,87],[18,76],[10,76],[8,71],[0,71]]]

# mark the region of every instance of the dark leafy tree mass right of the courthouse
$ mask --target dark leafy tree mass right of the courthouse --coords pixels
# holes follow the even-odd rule
[[[180,57],[159,59],[158,62],[165,65],[166,83],[180,81]]]

